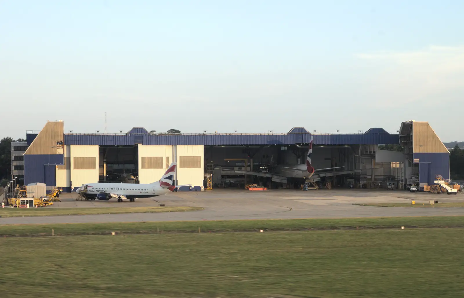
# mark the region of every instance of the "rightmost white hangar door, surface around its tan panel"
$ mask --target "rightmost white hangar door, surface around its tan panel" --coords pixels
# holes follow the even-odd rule
[[[192,184],[192,186],[203,186],[204,179],[204,147],[203,145],[177,145],[177,184]],[[180,156],[200,156],[200,168],[180,167]]]

